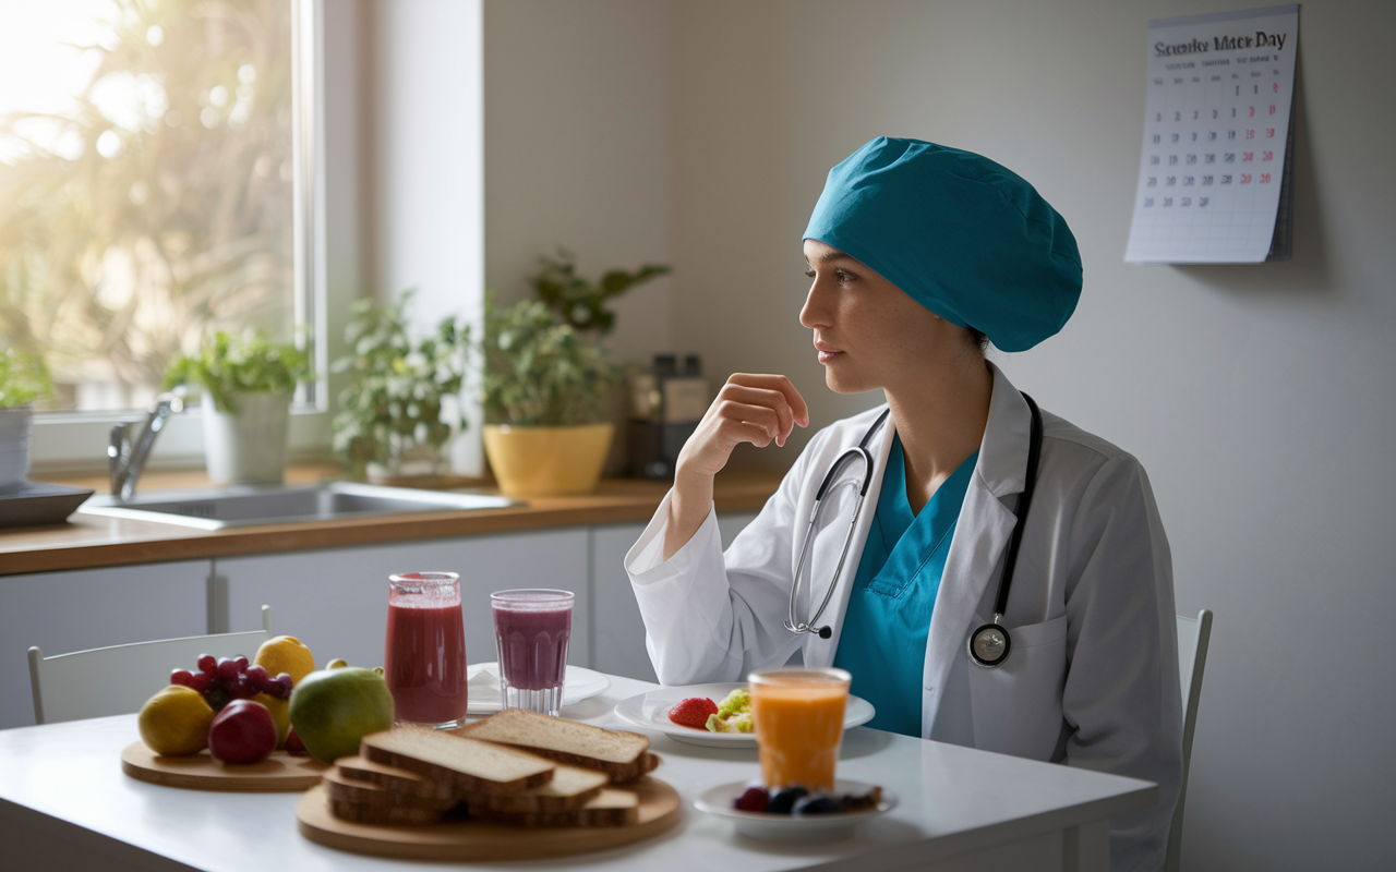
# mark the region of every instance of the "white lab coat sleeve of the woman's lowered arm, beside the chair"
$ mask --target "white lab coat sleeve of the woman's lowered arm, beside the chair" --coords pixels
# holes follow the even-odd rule
[[[1128,456],[1096,473],[1072,529],[1065,762],[1159,784],[1150,809],[1111,820],[1110,868],[1161,869],[1182,780],[1182,702],[1168,541]]]

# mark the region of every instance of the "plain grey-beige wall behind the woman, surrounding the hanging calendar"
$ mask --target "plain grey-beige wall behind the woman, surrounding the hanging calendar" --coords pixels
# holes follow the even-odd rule
[[[1302,6],[1293,261],[1122,262],[1146,24],[1238,6],[490,0],[490,280],[554,241],[607,265],[667,246],[664,306],[637,303],[623,329],[697,349],[715,374],[787,373],[826,423],[878,402],[825,391],[797,324],[800,232],[829,166],[889,134],[1012,167],[1069,220],[1086,287],[1060,336],[997,359],[1142,459],[1178,610],[1216,611],[1185,868],[1381,868],[1396,808],[1396,4]],[[606,144],[613,130],[630,137]]]

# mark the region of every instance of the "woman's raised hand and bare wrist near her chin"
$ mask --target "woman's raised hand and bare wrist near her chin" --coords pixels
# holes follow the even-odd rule
[[[683,548],[712,508],[712,479],[741,442],[785,445],[794,426],[810,426],[810,407],[785,375],[737,373],[718,391],[698,428],[684,442],[669,499],[664,559]]]

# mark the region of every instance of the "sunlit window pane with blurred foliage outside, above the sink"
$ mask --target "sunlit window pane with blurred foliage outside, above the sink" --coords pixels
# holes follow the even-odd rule
[[[142,409],[214,329],[309,339],[309,8],[0,0],[0,342],[50,409]]]

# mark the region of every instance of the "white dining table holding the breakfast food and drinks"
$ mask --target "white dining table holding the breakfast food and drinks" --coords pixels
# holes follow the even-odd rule
[[[658,685],[621,677],[610,682],[609,691],[565,707],[563,716],[632,730],[616,717],[616,705]],[[209,792],[131,779],[119,758],[135,738],[134,714],[0,731],[0,868],[356,872],[437,865],[310,841],[296,827],[300,794]],[[684,801],[673,829],[595,854],[465,865],[1104,872],[1110,818],[1152,805],[1157,792],[1149,781],[854,727],[843,739],[839,777],[884,785],[896,794],[896,806],[860,822],[846,839],[759,841],[692,805],[711,787],[755,777],[755,749],[701,748],[662,732],[651,738],[662,758],[653,774]]]

